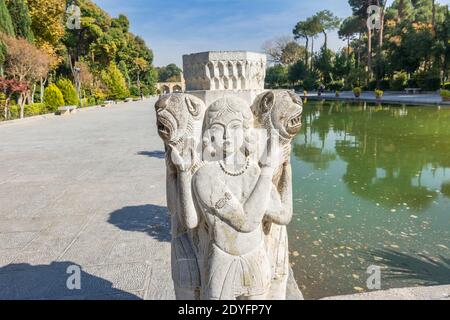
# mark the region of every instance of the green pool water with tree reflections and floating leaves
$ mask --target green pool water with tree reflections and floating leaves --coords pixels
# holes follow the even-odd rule
[[[450,109],[309,102],[292,167],[305,298],[450,284]]]

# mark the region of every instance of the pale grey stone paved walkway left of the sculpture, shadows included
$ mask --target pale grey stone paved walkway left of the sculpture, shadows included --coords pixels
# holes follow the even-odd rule
[[[0,299],[174,297],[154,102],[0,125]]]

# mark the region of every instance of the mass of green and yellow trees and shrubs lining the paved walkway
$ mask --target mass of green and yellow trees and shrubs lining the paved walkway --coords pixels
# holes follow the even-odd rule
[[[130,32],[128,18],[122,14],[112,18],[92,0],[77,0],[74,4],[81,10],[81,28],[68,29],[65,26],[66,6],[70,3],[62,0],[0,0],[0,33],[11,39],[17,37],[17,41],[18,38],[26,39],[20,41],[40,49],[42,57],[46,54],[45,59],[35,59],[39,56],[34,54],[36,50],[22,50],[14,57],[23,63],[15,63],[13,68],[9,61],[13,56],[12,47],[9,43],[6,46],[6,40],[0,41],[0,76],[17,78],[20,73],[30,85],[31,92],[26,94],[32,98],[40,94],[41,101],[44,93],[47,101],[58,100],[55,87],[59,86],[65,101],[49,103],[52,108],[64,103],[78,104],[79,97],[67,79],[45,90],[50,79],[74,79],[76,86],[80,86],[85,105],[99,103],[106,97],[126,98],[131,87],[135,93],[137,87],[143,95],[155,94],[158,74],[152,65],[153,52],[142,38]],[[20,57],[23,59],[18,59]],[[25,63],[42,60],[45,63]],[[34,69],[39,72],[29,75],[27,67],[34,65],[38,65]],[[179,75],[175,73],[178,78]]]

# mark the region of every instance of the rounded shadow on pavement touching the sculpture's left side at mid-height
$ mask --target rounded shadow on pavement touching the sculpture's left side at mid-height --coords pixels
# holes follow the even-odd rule
[[[125,231],[145,232],[161,242],[170,242],[170,221],[166,207],[152,204],[124,207],[111,213],[108,222]]]

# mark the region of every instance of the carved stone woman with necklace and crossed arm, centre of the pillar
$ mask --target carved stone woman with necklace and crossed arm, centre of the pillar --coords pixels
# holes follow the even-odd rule
[[[278,164],[251,157],[253,115],[237,98],[213,103],[204,132],[211,161],[195,173],[194,201],[209,238],[200,265],[203,299],[265,299],[271,265],[263,217],[281,208],[272,178]],[[270,148],[268,148],[270,150]],[[275,209],[274,209],[275,208]]]

